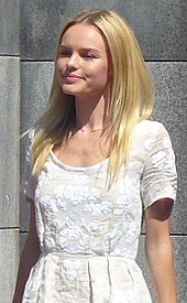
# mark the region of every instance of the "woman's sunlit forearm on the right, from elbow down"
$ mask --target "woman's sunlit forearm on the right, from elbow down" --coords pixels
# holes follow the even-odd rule
[[[150,272],[158,303],[176,303],[176,281],[170,238],[157,244],[145,244]]]

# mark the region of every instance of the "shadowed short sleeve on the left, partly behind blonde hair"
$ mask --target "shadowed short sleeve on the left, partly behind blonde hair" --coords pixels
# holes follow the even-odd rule
[[[25,158],[24,158],[24,171],[21,180],[21,192],[24,196],[34,199],[36,177],[31,173],[31,148],[34,140],[35,131],[30,131],[26,141]]]

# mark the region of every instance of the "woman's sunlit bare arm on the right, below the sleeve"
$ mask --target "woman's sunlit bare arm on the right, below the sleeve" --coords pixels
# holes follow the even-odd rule
[[[173,201],[163,198],[145,210],[145,255],[158,303],[177,303],[169,216]]]

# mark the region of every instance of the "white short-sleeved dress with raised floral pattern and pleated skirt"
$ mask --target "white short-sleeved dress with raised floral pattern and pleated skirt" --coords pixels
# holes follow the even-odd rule
[[[143,209],[175,199],[175,158],[163,125],[136,125],[128,164],[110,190],[108,160],[73,167],[51,152],[37,178],[30,176],[30,145],[26,162],[24,193],[35,203],[42,255],[22,303],[152,302],[135,258]]]

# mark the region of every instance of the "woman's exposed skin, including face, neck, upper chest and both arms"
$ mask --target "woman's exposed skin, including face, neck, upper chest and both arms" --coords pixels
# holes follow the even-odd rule
[[[55,147],[54,153],[67,165],[90,166],[106,159],[109,149],[102,129],[110,99],[111,71],[105,41],[99,32],[86,24],[69,28],[62,39],[56,66],[63,91],[75,96],[77,125],[66,147]],[[30,202],[30,231],[21,258],[13,303],[21,302],[29,272],[41,253],[34,202]],[[145,209],[144,216],[145,252],[158,303],[177,302],[169,237],[172,205],[168,198],[160,199]]]

